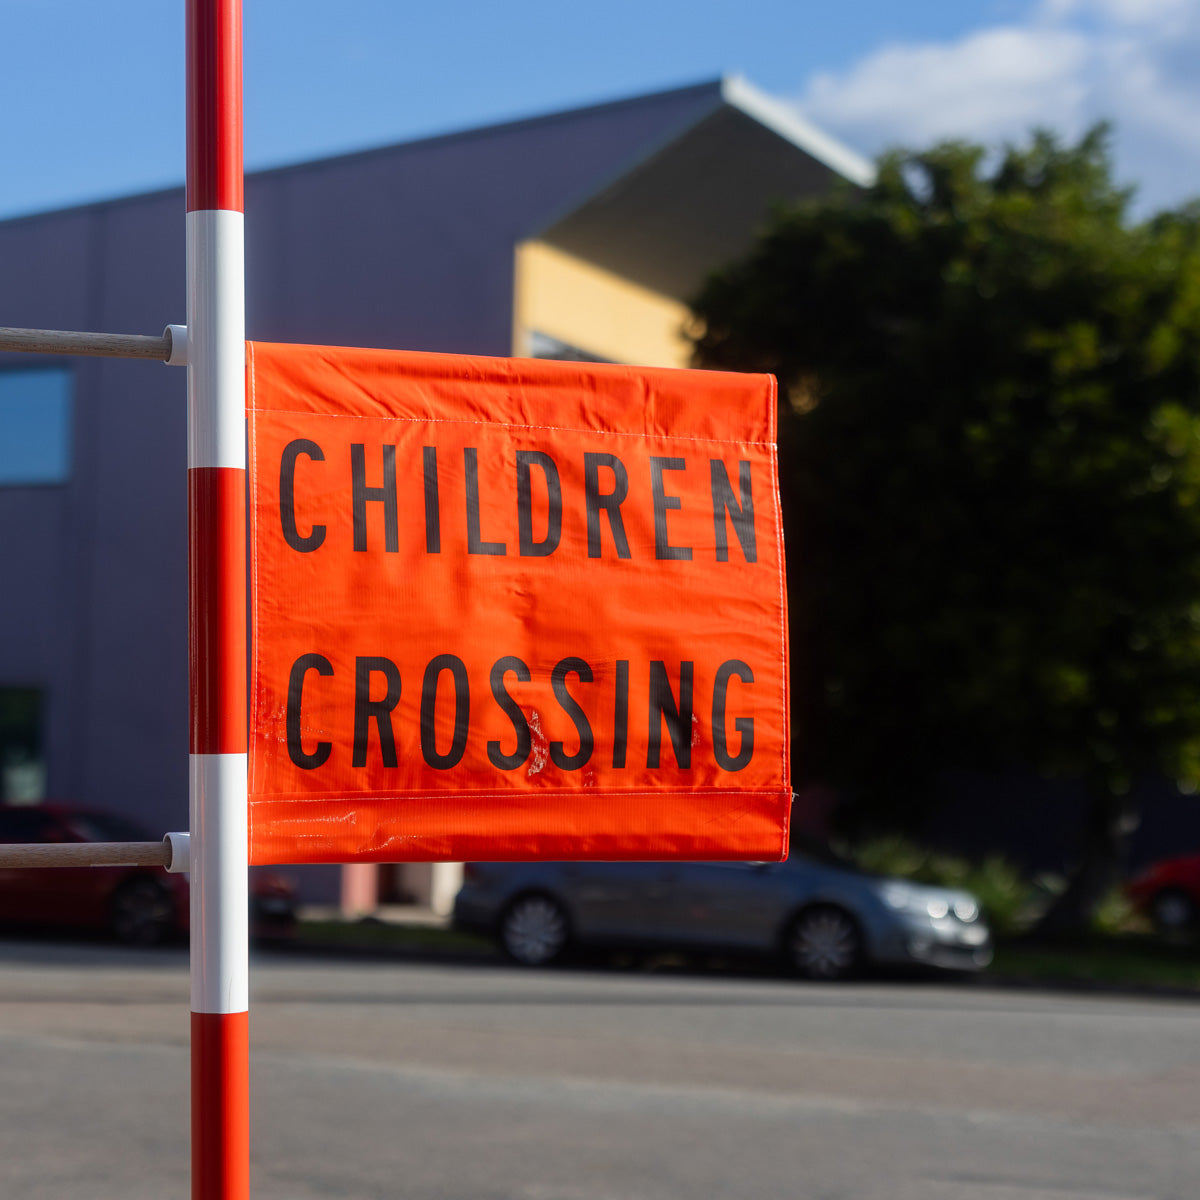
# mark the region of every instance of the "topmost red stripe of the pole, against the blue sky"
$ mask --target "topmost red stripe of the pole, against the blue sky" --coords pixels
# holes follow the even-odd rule
[[[187,211],[245,211],[241,0],[187,0]]]

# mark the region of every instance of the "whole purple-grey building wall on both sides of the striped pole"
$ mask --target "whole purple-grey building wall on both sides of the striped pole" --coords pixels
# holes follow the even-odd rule
[[[720,102],[706,84],[247,178],[247,334],[506,354],[515,244]],[[0,325],[185,320],[184,193],[0,222]],[[0,686],[44,690],[48,794],[187,824],[186,379],[74,371],[61,486],[0,486]],[[326,872],[328,874],[328,872]]]

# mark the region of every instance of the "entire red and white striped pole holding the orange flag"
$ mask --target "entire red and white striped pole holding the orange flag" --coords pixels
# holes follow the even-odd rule
[[[241,0],[187,0],[192,1200],[250,1195]]]

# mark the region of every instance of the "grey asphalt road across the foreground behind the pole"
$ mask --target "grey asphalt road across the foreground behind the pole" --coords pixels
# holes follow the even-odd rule
[[[0,1196],[187,1184],[182,952],[0,943]],[[1200,1004],[269,956],[256,1200],[1192,1200]]]

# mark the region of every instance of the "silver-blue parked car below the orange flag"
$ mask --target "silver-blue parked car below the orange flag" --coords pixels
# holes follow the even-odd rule
[[[469,863],[454,922],[527,966],[571,946],[778,954],[810,979],[991,961],[968,893],[868,875],[812,847],[785,863]]]

